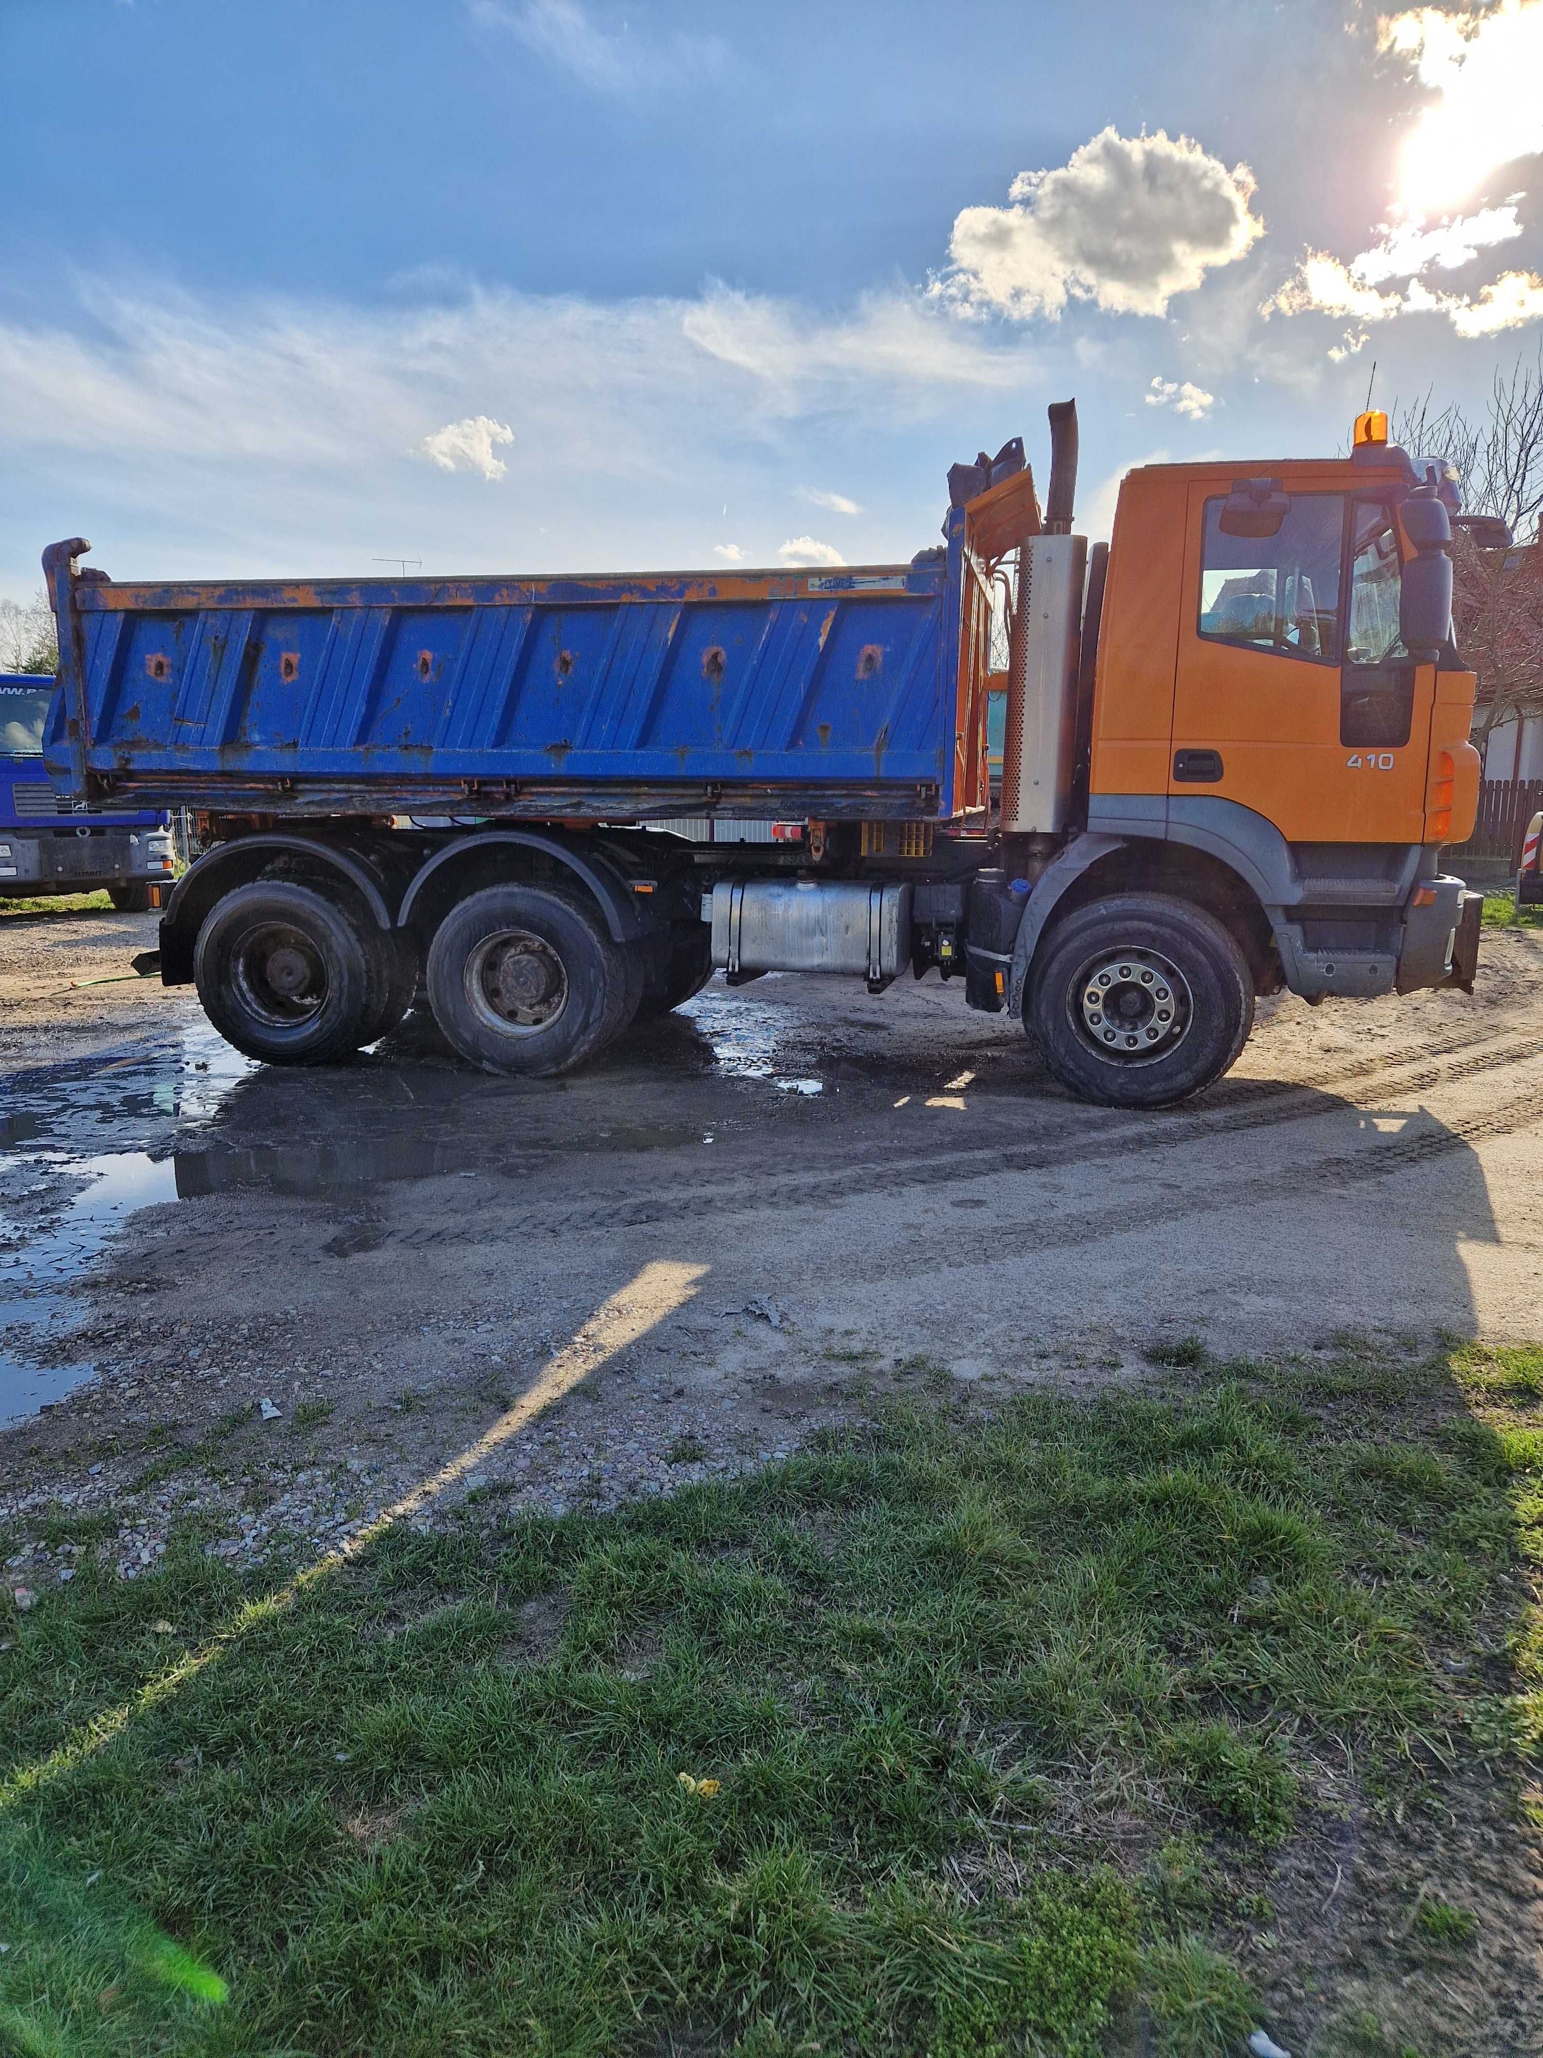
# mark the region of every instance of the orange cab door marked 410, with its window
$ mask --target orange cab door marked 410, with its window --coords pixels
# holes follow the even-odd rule
[[[1236,801],[1292,844],[1420,844],[1434,667],[1399,644],[1393,510],[1278,498],[1271,535],[1239,535],[1224,484],[1189,488],[1171,805]]]

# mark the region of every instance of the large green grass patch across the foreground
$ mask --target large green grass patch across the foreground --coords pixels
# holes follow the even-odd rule
[[[1415,1805],[1539,1731],[1535,1369],[961,1397],[290,1595],[86,1531],[0,1599],[0,2048],[1236,2052],[1234,1924],[1345,1766]],[[1440,1665],[1506,1609],[1508,1692]]]

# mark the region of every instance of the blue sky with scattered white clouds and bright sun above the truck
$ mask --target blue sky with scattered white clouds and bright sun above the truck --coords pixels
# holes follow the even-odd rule
[[[0,593],[872,562],[1543,321],[1543,0],[0,0]],[[1014,183],[1016,181],[1016,183]]]

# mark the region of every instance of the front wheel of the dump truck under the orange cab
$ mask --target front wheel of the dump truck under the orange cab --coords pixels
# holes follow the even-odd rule
[[[1025,1027],[1078,1099],[1169,1107],[1236,1062],[1253,1029],[1253,975],[1204,908],[1119,893],[1051,928]]]

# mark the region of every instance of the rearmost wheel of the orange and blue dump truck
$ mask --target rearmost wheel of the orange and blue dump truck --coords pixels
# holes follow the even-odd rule
[[[193,984],[226,1043],[267,1064],[346,1056],[383,1002],[360,922],[290,879],[257,879],[214,903],[193,947]]]

